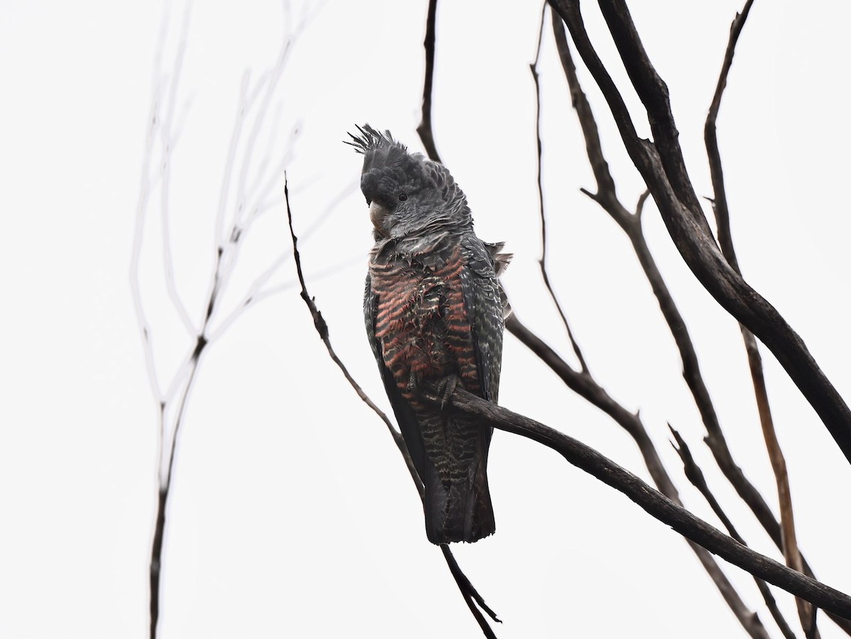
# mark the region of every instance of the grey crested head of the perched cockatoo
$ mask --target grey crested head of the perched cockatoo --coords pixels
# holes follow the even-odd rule
[[[448,207],[451,203],[469,211],[464,194],[454,182],[451,190],[447,188],[452,179],[445,169],[438,172],[421,153],[408,153],[390,131],[380,133],[368,124],[357,130],[361,134],[350,134],[354,141],[347,144],[363,154],[361,191],[369,205],[376,239],[401,238],[448,227],[457,221],[452,213],[459,208]]]

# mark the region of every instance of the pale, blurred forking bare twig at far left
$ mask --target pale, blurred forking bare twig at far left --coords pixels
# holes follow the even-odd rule
[[[160,450],[157,465],[157,515],[154,522],[154,533],[151,542],[151,562],[149,567],[150,577],[150,636],[155,639],[157,636],[157,625],[160,613],[160,578],[162,567],[163,543],[165,539],[165,526],[168,512],[168,496],[174,477],[174,461],[180,433],[183,430],[183,425],[186,421],[186,412],[189,406],[192,389],[197,379],[197,374],[200,368],[200,362],[203,353],[211,344],[210,338],[210,322],[212,321],[214,309],[221,295],[224,293],[229,281],[231,271],[237,260],[242,239],[248,232],[254,219],[262,212],[271,207],[264,197],[263,192],[257,194],[254,189],[245,190],[244,184],[251,165],[251,154],[253,152],[254,140],[260,132],[260,127],[263,123],[263,118],[268,108],[269,100],[271,100],[271,88],[274,88],[278,79],[283,73],[283,66],[286,61],[289,48],[294,42],[294,38],[299,34],[300,29],[305,25],[302,21],[299,28],[294,31],[291,37],[288,37],[283,44],[282,54],[279,56],[277,65],[270,74],[266,75],[266,79],[260,81],[253,89],[250,88],[249,76],[246,73],[243,76],[243,82],[240,89],[239,105],[237,109],[236,123],[231,134],[231,142],[229,145],[228,156],[226,160],[225,173],[222,178],[220,190],[220,204],[216,214],[216,257],[214,260],[214,268],[212,270],[211,281],[208,288],[208,296],[205,300],[205,309],[202,321],[199,327],[195,327],[191,322],[189,313],[180,300],[180,295],[177,292],[174,278],[174,262],[171,250],[171,241],[168,232],[169,225],[169,185],[170,185],[170,160],[174,152],[175,141],[180,137],[180,123],[182,118],[186,117],[186,111],[180,114],[180,120],[175,123],[174,105],[177,101],[177,93],[180,88],[180,70],[182,68],[182,60],[184,50],[186,48],[186,34],[188,32],[189,14],[188,11],[184,16],[184,22],[180,35],[180,42],[177,53],[174,57],[174,63],[170,74],[170,82],[164,83],[162,77],[162,58],[163,48],[165,46],[166,25],[168,23],[168,12],[163,13],[163,26],[160,31],[160,37],[157,44],[157,53],[155,55],[154,66],[154,91],[151,104],[151,113],[148,120],[148,132],[146,138],[146,151],[143,161],[142,177],[140,180],[140,197],[136,209],[136,225],[133,244],[133,253],[130,261],[130,286],[133,293],[134,307],[136,310],[137,322],[140,328],[142,344],[145,349],[146,368],[151,384],[151,394],[157,402],[157,424],[159,428]],[[252,113],[252,108],[255,101],[261,94],[261,89],[266,89],[264,100],[260,104],[259,111]],[[237,151],[240,146],[241,131],[243,123],[249,116],[253,116],[253,126],[251,128],[252,140],[249,140],[247,145],[243,146],[241,151],[244,155],[239,156]],[[155,157],[154,140],[160,141],[160,157]],[[288,159],[288,152],[283,158]],[[241,163],[237,160],[241,158]],[[280,164],[280,162],[278,163]],[[151,179],[151,167],[158,166],[159,171],[156,174],[156,180]],[[231,218],[231,227],[229,234],[225,236],[226,212],[228,209],[228,197],[231,185],[231,176],[235,174],[237,166],[240,167],[240,192],[237,196],[236,210],[234,210]],[[255,185],[260,186],[262,191],[262,182],[260,176],[254,180]],[[174,372],[172,379],[168,383],[168,390],[163,394],[159,380],[157,379],[157,371],[154,365],[154,350],[151,338],[151,326],[146,317],[145,308],[140,294],[140,256],[144,242],[144,233],[146,226],[146,214],[151,204],[151,191],[154,187],[160,189],[160,201],[162,215],[162,242],[163,242],[163,260],[166,274],[166,286],[168,294],[175,308],[180,314],[184,326],[191,335],[191,343],[187,347],[186,356],[183,362]],[[254,208],[249,210],[248,218],[244,210],[244,203],[254,202]],[[271,273],[277,270],[279,264],[273,264],[270,270],[263,273],[255,280],[256,288],[265,283]],[[248,305],[243,305],[237,308],[234,313],[231,313],[230,319],[236,319],[240,312]],[[221,333],[222,327],[215,334]],[[174,403],[176,402],[176,404]]]

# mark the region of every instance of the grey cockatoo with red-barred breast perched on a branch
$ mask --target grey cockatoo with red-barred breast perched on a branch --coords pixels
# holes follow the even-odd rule
[[[454,411],[456,385],[496,402],[507,303],[497,277],[511,255],[473,232],[466,197],[440,163],[408,153],[389,131],[351,135],[375,245],[363,312],[367,334],[414,466],[434,544],[494,533],[488,491],[493,428]],[[437,385],[443,406],[419,391]]]

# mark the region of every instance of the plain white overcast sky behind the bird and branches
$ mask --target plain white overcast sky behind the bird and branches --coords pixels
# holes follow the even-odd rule
[[[741,3],[633,4],[651,60],[671,89],[696,188],[709,196],[703,120]],[[184,8],[174,3],[166,11],[168,73]],[[293,22],[305,14],[294,3]],[[515,254],[505,287],[518,317],[573,361],[536,263],[528,63],[538,15],[537,4],[441,5],[435,134],[480,236],[507,240]],[[0,16],[0,636],[142,637],[157,411],[129,264],[162,8],[7,0]],[[639,131],[648,134],[593,3],[585,16]],[[371,245],[363,197],[348,191],[307,231],[357,180],[360,157],[340,143],[355,123],[391,128],[420,148],[414,128],[425,18],[425,0],[328,2],[294,43],[248,174],[250,182],[266,148],[277,156],[293,151],[291,201],[311,294],[340,357],[388,412],[363,334]],[[745,277],[802,335],[845,397],[849,18],[842,3],[802,10],[757,2],[718,123]],[[175,101],[186,119],[172,156],[169,228],[176,287],[196,324],[213,265],[240,79],[251,70],[253,86],[273,66],[284,24],[276,2],[197,3],[191,11]],[[584,69],[580,79],[620,196],[631,205],[642,189],[637,172]],[[549,29],[541,82],[551,279],[591,371],[625,407],[641,409],[688,507],[717,523],[684,479],[666,421],[687,439],[745,539],[777,557],[713,471],[677,351],[625,235],[579,192],[594,183]],[[151,175],[157,170],[155,162]],[[271,198],[282,188],[277,180]],[[159,198],[155,188],[140,272],[164,387],[191,338],[164,287]],[[232,198],[227,210],[232,214]],[[739,329],[683,265],[652,202],[644,220],[734,457],[774,504]],[[285,211],[276,203],[245,240],[223,311],[289,250]],[[426,541],[419,500],[385,426],[346,385],[313,331],[291,260],[269,282],[280,284],[289,288],[245,312],[201,364],[169,509],[163,639],[477,636],[440,552]],[[224,317],[216,316],[214,328]],[[762,353],[799,541],[825,583],[851,591],[848,464],[774,358]],[[511,336],[503,371],[505,406],[647,478],[631,438]],[[454,551],[504,620],[495,627],[500,638],[744,636],[676,533],[537,444],[498,432],[491,451],[498,533]],[[722,567],[778,636],[751,578]],[[791,596],[775,595],[796,625]],[[821,619],[822,636],[841,636]]]

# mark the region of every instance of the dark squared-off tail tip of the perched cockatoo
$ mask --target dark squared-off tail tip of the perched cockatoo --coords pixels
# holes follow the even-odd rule
[[[434,466],[426,470],[426,535],[432,544],[473,542],[496,530],[490,502],[487,458],[471,465],[469,475],[447,485]]]

